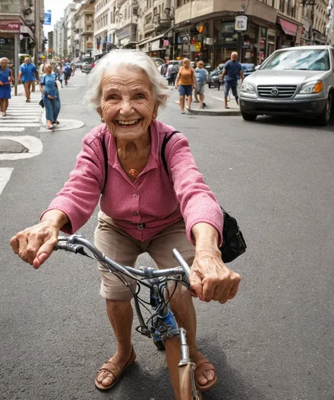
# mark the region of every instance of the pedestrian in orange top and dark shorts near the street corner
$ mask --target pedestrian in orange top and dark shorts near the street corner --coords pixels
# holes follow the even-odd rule
[[[190,59],[183,59],[182,67],[176,76],[175,89],[180,93],[181,114],[185,114],[185,96],[187,96],[187,110],[192,105],[192,89],[196,87],[194,69],[190,67]]]

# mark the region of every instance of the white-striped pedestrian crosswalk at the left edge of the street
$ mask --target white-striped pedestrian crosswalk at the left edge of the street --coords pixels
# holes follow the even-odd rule
[[[0,133],[23,132],[25,128],[36,128],[42,123],[43,109],[39,106],[40,92],[32,92],[30,103],[25,96],[12,97],[9,100],[6,116],[0,114]]]

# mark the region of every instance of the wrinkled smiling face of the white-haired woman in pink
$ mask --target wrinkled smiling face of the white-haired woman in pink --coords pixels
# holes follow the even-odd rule
[[[101,111],[111,135],[125,142],[148,131],[156,100],[147,74],[140,68],[118,68],[101,80]]]

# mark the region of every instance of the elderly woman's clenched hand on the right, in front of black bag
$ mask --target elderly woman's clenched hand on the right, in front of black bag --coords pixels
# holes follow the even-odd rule
[[[190,293],[200,300],[226,303],[237,294],[241,277],[230,271],[221,253],[201,250],[195,254],[190,272]]]

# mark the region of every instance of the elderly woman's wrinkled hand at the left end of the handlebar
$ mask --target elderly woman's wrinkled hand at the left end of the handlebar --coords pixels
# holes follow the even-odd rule
[[[51,220],[39,222],[11,238],[11,248],[23,261],[38,269],[54,251],[59,225]]]

